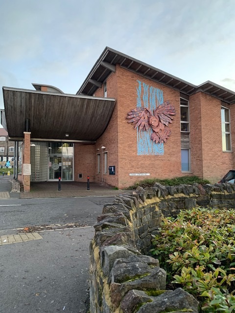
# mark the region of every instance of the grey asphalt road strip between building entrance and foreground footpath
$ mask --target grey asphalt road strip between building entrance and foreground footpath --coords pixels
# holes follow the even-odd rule
[[[92,226],[104,203],[114,197],[0,199],[0,231],[44,224],[78,223]],[[0,233],[1,233],[0,232]]]

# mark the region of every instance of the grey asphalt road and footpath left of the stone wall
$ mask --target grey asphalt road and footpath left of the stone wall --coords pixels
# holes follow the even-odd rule
[[[15,228],[83,223],[40,231],[43,239],[0,246],[0,312],[85,313],[89,308],[89,245],[103,204],[113,197],[0,200],[0,236]]]

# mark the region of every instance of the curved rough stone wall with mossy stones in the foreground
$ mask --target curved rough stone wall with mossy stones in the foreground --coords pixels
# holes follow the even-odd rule
[[[166,273],[147,255],[162,216],[195,206],[234,208],[235,184],[156,183],[104,205],[90,246],[91,313],[198,312],[186,291],[165,291]]]

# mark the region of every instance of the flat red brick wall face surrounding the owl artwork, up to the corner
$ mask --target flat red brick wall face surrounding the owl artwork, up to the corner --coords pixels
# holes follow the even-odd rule
[[[178,91],[117,67],[118,71],[118,146],[120,149],[119,185],[128,186],[140,179],[173,178],[181,176],[180,94]],[[127,123],[126,115],[137,105],[137,80],[163,90],[164,101],[174,105],[176,115],[170,124],[171,135],[164,144],[164,155],[137,156],[137,132]],[[143,103],[141,104],[143,106]],[[148,177],[129,176],[129,173],[150,173]]]

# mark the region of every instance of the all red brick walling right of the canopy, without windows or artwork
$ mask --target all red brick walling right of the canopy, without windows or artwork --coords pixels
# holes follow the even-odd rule
[[[127,113],[137,105],[137,88],[139,87],[137,80],[149,87],[162,89],[164,101],[169,100],[175,107],[176,115],[173,123],[169,125],[171,135],[164,144],[163,156],[137,155],[137,132],[126,119]],[[197,175],[215,182],[234,167],[233,154],[222,152],[220,100],[202,92],[189,97],[191,173],[187,174],[181,171],[179,91],[119,66],[116,66],[116,72],[108,77],[106,83],[107,97],[115,98],[116,105],[107,129],[94,147],[95,181],[102,180],[102,174],[97,174],[97,153],[104,157],[101,153],[101,146],[106,147],[103,152],[108,152],[108,166],[116,166],[116,175],[103,174],[103,181],[119,188],[127,187],[146,178],[165,179],[185,175]],[[103,96],[103,87],[97,89],[95,96]],[[233,125],[235,117],[232,116],[235,116],[233,106],[231,108]],[[232,131],[232,138],[234,133],[235,131]],[[232,144],[235,148],[234,141]],[[150,173],[150,176],[136,177],[129,176],[129,173]]]

